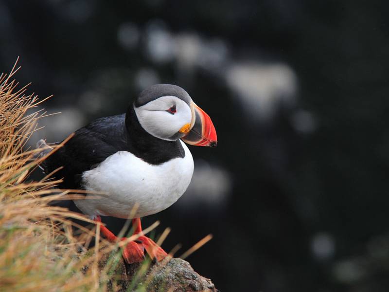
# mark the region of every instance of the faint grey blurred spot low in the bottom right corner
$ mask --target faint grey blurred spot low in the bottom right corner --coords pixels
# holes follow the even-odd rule
[[[366,270],[357,260],[344,260],[334,266],[333,274],[339,282],[350,284],[361,280]]]

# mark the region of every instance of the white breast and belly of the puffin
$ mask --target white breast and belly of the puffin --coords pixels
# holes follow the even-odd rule
[[[171,206],[185,192],[193,175],[193,158],[188,147],[184,158],[174,158],[159,165],[144,162],[130,152],[120,151],[109,156],[96,168],[85,171],[82,185],[90,191],[103,192],[99,198],[75,200],[85,214],[128,218],[144,217]]]

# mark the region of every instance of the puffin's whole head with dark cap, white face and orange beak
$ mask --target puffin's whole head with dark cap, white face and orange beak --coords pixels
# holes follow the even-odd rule
[[[134,110],[141,127],[154,137],[167,141],[181,139],[195,146],[217,144],[211,118],[179,86],[148,87],[135,100]]]

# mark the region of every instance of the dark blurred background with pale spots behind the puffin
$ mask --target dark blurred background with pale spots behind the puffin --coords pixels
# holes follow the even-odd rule
[[[0,1],[0,69],[59,141],[173,83],[212,117],[163,247],[224,291],[389,290],[389,2]],[[110,221],[120,230],[122,222]],[[180,253],[178,253],[179,255]]]

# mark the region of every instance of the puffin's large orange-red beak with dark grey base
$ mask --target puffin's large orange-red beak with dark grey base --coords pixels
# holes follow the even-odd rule
[[[193,127],[187,135],[181,138],[187,144],[195,146],[216,147],[217,136],[211,118],[204,110],[201,110],[195,103],[192,103]]]

